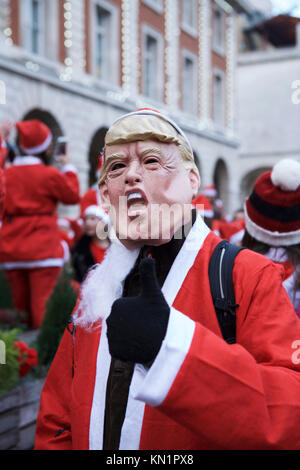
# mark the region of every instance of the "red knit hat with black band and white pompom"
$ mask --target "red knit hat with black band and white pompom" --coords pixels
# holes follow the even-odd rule
[[[248,233],[270,246],[300,243],[300,163],[284,159],[262,174],[245,202]]]

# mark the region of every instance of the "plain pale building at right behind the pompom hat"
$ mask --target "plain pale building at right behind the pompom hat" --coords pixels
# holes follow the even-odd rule
[[[267,18],[248,28],[250,34],[255,49],[238,57],[242,199],[279,160],[300,161],[300,18]]]

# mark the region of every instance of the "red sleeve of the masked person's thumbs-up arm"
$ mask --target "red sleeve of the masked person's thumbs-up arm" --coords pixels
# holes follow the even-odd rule
[[[213,448],[299,450],[299,319],[271,263],[255,280],[251,271],[244,276],[238,291],[237,302],[248,303],[237,325],[238,343],[229,345],[183,316],[195,325],[194,333],[167,393],[153,403],[167,359],[165,354],[158,367],[161,350],[136,395]],[[180,340],[174,330],[173,348]]]

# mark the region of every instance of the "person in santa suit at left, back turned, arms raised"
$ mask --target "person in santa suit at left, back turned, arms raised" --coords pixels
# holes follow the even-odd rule
[[[23,156],[4,170],[6,199],[0,231],[0,268],[6,271],[15,308],[39,328],[45,304],[63,266],[57,204],[79,203],[79,181],[69,155],[61,170],[47,166],[52,134],[38,120],[16,124]]]

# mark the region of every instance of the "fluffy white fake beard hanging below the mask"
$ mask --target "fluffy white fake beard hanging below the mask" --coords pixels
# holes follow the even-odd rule
[[[92,268],[82,285],[75,324],[89,328],[108,317],[112,304],[122,296],[124,280],[133,268],[139,251],[128,250],[113,237],[104,260]]]

